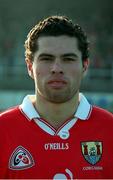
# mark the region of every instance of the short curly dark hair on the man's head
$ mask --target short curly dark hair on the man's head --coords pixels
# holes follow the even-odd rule
[[[25,41],[25,57],[33,61],[33,55],[38,49],[37,39],[41,36],[61,36],[76,37],[78,48],[82,52],[82,61],[89,57],[89,42],[87,36],[80,25],[74,24],[66,16],[50,16],[36,24]]]

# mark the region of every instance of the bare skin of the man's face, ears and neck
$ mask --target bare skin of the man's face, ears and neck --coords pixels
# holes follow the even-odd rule
[[[82,62],[75,37],[40,37],[37,43],[33,62],[26,60],[35,83],[34,106],[41,117],[58,129],[78,107],[79,88],[89,61]]]

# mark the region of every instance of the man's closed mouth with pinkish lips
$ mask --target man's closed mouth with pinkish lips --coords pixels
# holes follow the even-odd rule
[[[48,82],[48,85],[53,89],[61,89],[65,87],[67,82],[65,80],[53,79]]]

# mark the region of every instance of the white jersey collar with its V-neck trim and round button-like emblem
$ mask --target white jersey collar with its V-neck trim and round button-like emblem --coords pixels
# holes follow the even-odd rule
[[[40,115],[35,110],[33,106],[34,95],[28,95],[24,98],[22,104],[20,105],[20,110],[24,113],[24,115],[28,118],[28,120],[34,120],[35,123],[43,129],[46,133],[54,136],[58,135],[61,139],[67,139],[70,136],[69,130],[74,126],[77,119],[86,120],[88,119],[91,112],[91,105],[88,103],[87,99],[80,94],[80,103],[78,109],[74,115],[74,118],[71,119],[66,124],[63,124],[58,130],[55,130],[51,125],[46,122],[43,122],[40,119]]]

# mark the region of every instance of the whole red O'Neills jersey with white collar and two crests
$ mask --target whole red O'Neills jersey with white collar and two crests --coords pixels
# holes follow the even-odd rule
[[[0,114],[0,178],[113,178],[111,113],[81,95],[74,117],[56,130],[30,98]]]

